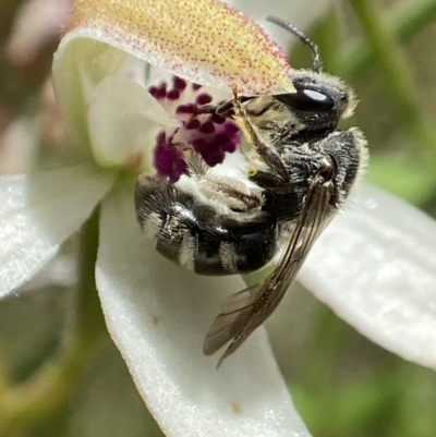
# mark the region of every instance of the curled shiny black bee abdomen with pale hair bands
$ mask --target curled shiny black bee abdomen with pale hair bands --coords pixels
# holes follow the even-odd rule
[[[257,270],[276,252],[277,226],[259,213],[250,221],[219,215],[166,180],[143,177],[135,190],[136,216],[157,251],[201,275]]]

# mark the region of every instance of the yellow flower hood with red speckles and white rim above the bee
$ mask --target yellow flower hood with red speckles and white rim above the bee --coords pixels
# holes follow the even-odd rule
[[[218,0],[76,0],[66,31],[203,85],[243,95],[294,90],[277,44]]]

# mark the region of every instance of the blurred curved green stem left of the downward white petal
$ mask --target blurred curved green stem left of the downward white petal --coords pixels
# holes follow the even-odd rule
[[[95,286],[98,209],[81,232],[77,320],[60,351],[16,386],[0,392],[0,436],[15,436],[49,416],[76,390],[106,332]]]

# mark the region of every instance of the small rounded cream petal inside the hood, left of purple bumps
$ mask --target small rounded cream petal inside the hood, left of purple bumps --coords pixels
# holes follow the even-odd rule
[[[122,166],[134,160],[143,170],[156,136],[178,121],[141,85],[122,76],[105,77],[94,89],[88,107],[94,156],[100,165]]]

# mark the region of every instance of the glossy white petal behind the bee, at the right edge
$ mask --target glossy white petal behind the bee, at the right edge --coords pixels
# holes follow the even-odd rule
[[[436,221],[380,190],[320,236],[301,280],[363,335],[436,367]]]

